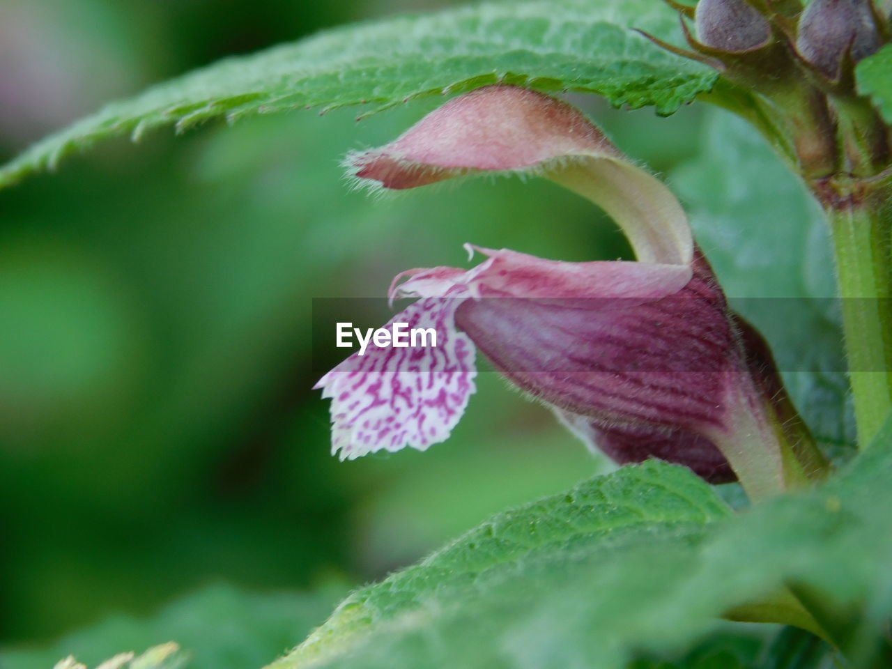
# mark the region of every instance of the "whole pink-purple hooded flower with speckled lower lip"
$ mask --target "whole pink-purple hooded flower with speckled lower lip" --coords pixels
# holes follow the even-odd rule
[[[418,299],[390,323],[432,327],[439,341],[370,345],[319,380],[342,458],[444,441],[475,392],[479,349],[617,462],[663,458],[713,482],[736,474],[751,495],[820,465],[807,439],[791,445],[779,426],[764,392],[763,377],[777,378],[770,355],[742,334],[676,198],[580,111],[485,87],[348,162],[385,188],[492,170],[550,178],[611,214],[638,260],[562,262],[468,245],[485,257],[474,268],[401,273],[391,300]]]

